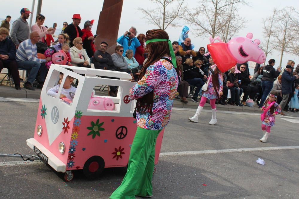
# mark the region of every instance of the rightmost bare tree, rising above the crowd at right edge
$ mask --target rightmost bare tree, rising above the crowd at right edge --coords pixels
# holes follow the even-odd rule
[[[281,66],[282,63],[283,53],[293,52],[292,44],[296,40],[296,31],[298,31],[296,30],[296,23],[294,23],[296,17],[294,7],[285,7],[277,12],[273,35],[277,43],[276,50],[280,51],[279,66]]]

